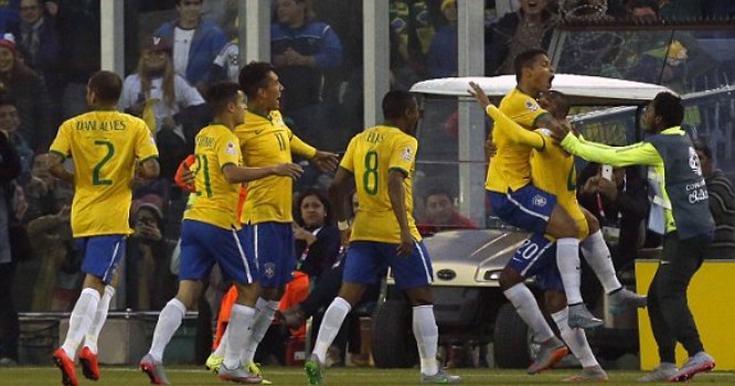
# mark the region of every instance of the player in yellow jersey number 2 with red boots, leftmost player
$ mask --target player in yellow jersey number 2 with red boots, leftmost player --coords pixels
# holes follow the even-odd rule
[[[74,374],[76,351],[84,340],[79,362],[84,376],[97,380],[97,336],[115,293],[110,281],[120,258],[132,193],[130,183],[140,164],[140,176],[158,176],[158,150],[146,124],[117,111],[122,81],[111,72],[95,73],[87,84],[89,112],[62,124],[49,154],[50,172],[74,184],[72,233],[84,254],[84,288],[74,305],[64,344],[53,360],[64,385],[78,385]],[[64,168],[71,158],[74,171]]]

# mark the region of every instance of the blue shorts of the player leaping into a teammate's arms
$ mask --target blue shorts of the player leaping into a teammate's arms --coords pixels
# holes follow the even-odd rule
[[[556,196],[528,184],[505,194],[488,191],[492,212],[505,223],[540,234],[546,233],[546,224],[556,205]]]

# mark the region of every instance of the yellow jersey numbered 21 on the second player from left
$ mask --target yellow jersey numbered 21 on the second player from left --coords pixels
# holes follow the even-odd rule
[[[222,172],[227,164],[243,164],[237,137],[225,126],[210,125],[194,139],[194,158],[191,170],[196,193],[192,193],[195,199],[189,202],[184,218],[239,229],[237,202],[242,184],[227,182]]]

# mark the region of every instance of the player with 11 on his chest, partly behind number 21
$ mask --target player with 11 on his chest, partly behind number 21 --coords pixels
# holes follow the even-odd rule
[[[247,64],[241,71],[238,82],[248,100],[245,124],[238,125],[234,131],[245,165],[255,168],[291,162],[291,153],[295,153],[322,170],[337,168],[337,154],[312,148],[284,122],[278,111],[284,86],[270,63]],[[245,251],[258,261],[262,293],[256,304],[258,313],[253,334],[243,353],[244,364],[253,362],[257,345],[268,330],[286,283],[291,280],[296,268],[291,228],[292,184],[292,178],[281,175],[270,175],[247,184],[241,223],[246,234]]]

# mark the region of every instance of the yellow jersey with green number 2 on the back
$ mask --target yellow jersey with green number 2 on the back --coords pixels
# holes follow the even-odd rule
[[[129,235],[136,160],[158,157],[146,122],[115,110],[86,112],[61,125],[50,151],[74,163],[74,237]]]

